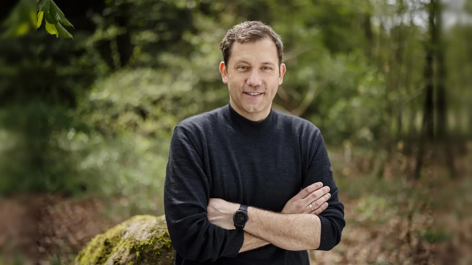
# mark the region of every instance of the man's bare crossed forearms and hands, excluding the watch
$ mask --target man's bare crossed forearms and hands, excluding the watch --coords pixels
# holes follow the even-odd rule
[[[280,214],[248,207],[250,218],[244,229],[244,243],[239,253],[270,243],[287,250],[319,248],[321,221],[318,215],[328,207],[325,202],[330,197],[329,187],[322,187],[322,183],[318,182],[290,199]],[[314,207],[313,211],[307,206],[309,204]],[[223,199],[210,199],[208,220],[224,229],[235,229],[231,217],[239,206]]]

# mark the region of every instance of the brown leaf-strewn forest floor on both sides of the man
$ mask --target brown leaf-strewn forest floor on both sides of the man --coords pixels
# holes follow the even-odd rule
[[[356,176],[350,179],[351,184],[343,182],[342,185],[362,192],[356,187],[371,180]],[[470,183],[465,179],[449,186],[457,189],[470,187]],[[459,215],[450,204],[442,206],[442,210],[432,207],[438,205],[434,198],[448,198],[451,204],[454,199],[451,199],[450,189],[439,192],[430,187],[410,183],[409,190],[415,194],[405,192],[396,196],[388,192],[382,195],[382,190],[358,196],[341,193],[347,224],[342,241],[328,252],[311,251],[311,264],[471,264],[471,254],[467,252],[472,242],[471,216]],[[434,198],[427,200],[426,197]],[[461,198],[469,199],[470,196]],[[15,264],[12,260],[7,261],[6,257],[13,256],[5,253],[23,257],[16,264],[68,264],[95,235],[131,217],[103,214],[104,210],[123,204],[123,200],[126,198],[114,199],[110,205],[97,198],[73,199],[55,195],[0,199],[0,251],[4,253],[0,265]],[[30,257],[31,262],[25,257]]]

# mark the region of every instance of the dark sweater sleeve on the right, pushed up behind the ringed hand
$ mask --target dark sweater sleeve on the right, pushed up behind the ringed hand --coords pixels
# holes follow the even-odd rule
[[[328,151],[319,130],[316,130],[312,141],[309,157],[312,159],[308,166],[308,173],[303,188],[322,182],[329,187],[331,198],[326,208],[318,217],[321,221],[320,247],[316,250],[331,250],[341,241],[341,233],[346,226],[344,219],[344,205],[339,201],[336,182],[333,178],[333,169],[328,157]]]

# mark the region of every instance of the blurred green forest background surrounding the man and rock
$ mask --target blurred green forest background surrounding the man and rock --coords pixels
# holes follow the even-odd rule
[[[273,108],[320,128],[346,207],[312,264],[471,260],[472,1],[56,1],[58,35],[35,0],[4,4],[1,257],[67,264],[164,214],[173,128],[228,103],[219,43],[261,20],[285,45]]]

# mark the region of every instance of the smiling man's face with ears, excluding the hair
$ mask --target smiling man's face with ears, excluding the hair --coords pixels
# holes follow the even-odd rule
[[[284,64],[279,72],[277,47],[270,38],[233,43],[228,72],[224,62],[219,70],[223,83],[228,84],[231,106],[238,113],[255,121],[269,115],[285,74]]]

